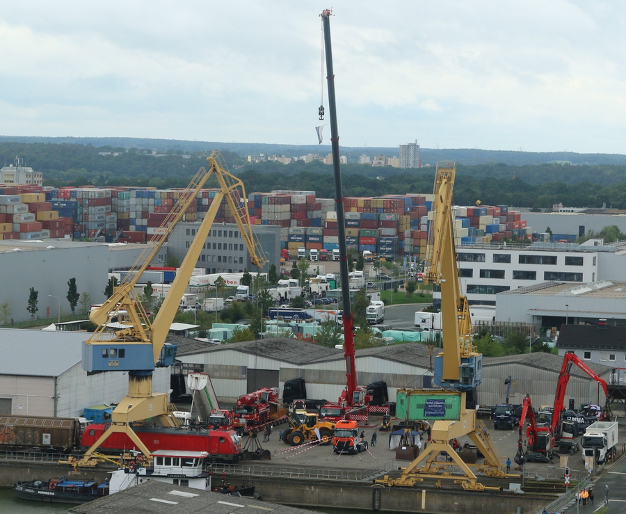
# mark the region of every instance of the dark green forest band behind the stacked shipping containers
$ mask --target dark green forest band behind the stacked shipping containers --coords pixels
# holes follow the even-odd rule
[[[335,198],[332,166],[321,161],[295,161],[287,166],[274,161],[249,163],[247,154],[227,149],[220,151],[230,171],[243,180],[248,193],[296,189],[315,191],[319,198]],[[0,142],[3,166],[13,163],[15,156],[19,156],[24,166],[43,173],[47,186],[184,187],[195,172],[206,165],[208,154],[209,150],[183,152],[181,148],[153,154],[140,147]],[[433,166],[400,170],[348,163],[342,166],[344,195],[431,193],[434,173]],[[216,183],[208,186],[216,186]],[[534,209],[549,209],[559,202],[568,207],[600,208],[605,204],[614,209],[626,209],[626,163],[552,162],[522,166],[497,162],[458,163],[455,202],[471,205],[477,200],[482,204]]]

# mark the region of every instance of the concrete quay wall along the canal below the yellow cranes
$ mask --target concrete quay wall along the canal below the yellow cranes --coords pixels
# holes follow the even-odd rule
[[[330,470],[327,470],[328,479],[323,479],[323,477],[300,479],[278,473],[276,476],[264,476],[271,472],[262,472],[257,475],[252,470],[253,467],[214,465],[213,484],[220,485],[222,481],[233,485],[250,483],[255,485],[256,492],[261,495],[262,499],[272,503],[312,509],[349,508],[364,512],[536,513],[555,498],[554,495],[515,495],[512,492],[494,490],[472,492],[456,488],[439,489],[433,485],[418,485],[415,488],[385,488],[374,484],[372,479],[362,482],[340,481]],[[264,466],[264,469],[268,467],[270,466]],[[345,473],[345,470],[343,472]],[[95,481],[104,481],[109,476],[106,469],[79,468],[78,472],[74,472],[69,465],[3,462],[0,463],[0,486],[13,487],[13,484],[19,480],[47,481],[65,474],[72,479],[94,479]],[[370,474],[375,473],[370,471]],[[518,511],[518,508],[521,508],[521,511]]]

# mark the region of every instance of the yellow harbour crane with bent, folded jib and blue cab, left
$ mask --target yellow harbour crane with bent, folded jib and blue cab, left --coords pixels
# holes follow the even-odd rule
[[[127,275],[129,280],[114,287],[111,298],[90,314],[90,320],[97,326],[97,330],[83,344],[83,369],[88,373],[125,371],[129,379],[128,394],[113,410],[111,425],[86,451],[79,462],[81,465],[86,465],[96,455],[97,448],[109,435],[116,432],[126,433],[146,458],[150,458],[150,451],[132,430],[132,423],[150,418],[161,426],[177,426],[175,417],[171,415],[168,394],[152,392],[152,372],[155,367],[167,367],[175,362],[176,346],[166,344],[166,337],[222,200],[227,202],[232,211],[248,248],[250,262],[259,268],[265,262],[259,257],[263,252],[259,250],[259,244],[252,233],[243,183],[225,170],[217,152],[211,153],[207,160],[209,166],[207,169],[200,168],[195,174],[191,184],[161,225],[159,239],[148,243],[131,270],[134,273]],[[168,236],[184,218],[198,192],[211,176],[216,177],[219,191],[200,223],[174,282],[151,323],[134,286],[145,268],[157,257]],[[107,326],[121,314],[127,320],[125,323],[128,326],[111,334],[107,331]]]

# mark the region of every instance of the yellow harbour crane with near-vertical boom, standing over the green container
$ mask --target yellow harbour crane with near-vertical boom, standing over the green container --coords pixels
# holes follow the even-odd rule
[[[465,489],[483,490],[487,487],[476,481],[472,467],[487,476],[506,476],[501,470],[502,457],[487,428],[476,420],[476,410],[466,407],[465,395],[481,383],[483,356],[476,352],[472,344],[470,307],[467,298],[460,292],[458,280],[452,210],[455,174],[455,163],[437,163],[424,282],[441,289],[442,352],[435,357],[435,385],[456,393],[454,400],[458,402],[459,415],[456,419],[434,421],[431,442],[424,451],[401,470],[399,477],[385,476],[376,481],[384,485],[412,487],[428,477],[438,479],[438,483],[442,479],[450,479]],[[433,390],[424,390],[423,393],[427,398]],[[485,456],[483,465],[465,463],[456,453],[450,442],[461,437],[469,437]],[[437,460],[442,452],[449,456],[445,463]],[[449,469],[451,466],[460,467],[463,475],[453,474]]]

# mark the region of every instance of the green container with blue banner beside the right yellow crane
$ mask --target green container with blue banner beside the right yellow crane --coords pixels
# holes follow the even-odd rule
[[[460,394],[456,392],[433,391],[432,389],[398,389],[396,393],[396,417],[408,419],[408,421],[458,419],[460,399]]]

